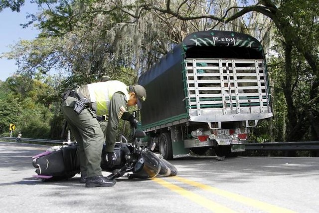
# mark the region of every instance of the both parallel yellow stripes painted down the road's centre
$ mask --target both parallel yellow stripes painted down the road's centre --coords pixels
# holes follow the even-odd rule
[[[257,201],[251,198],[247,198],[245,196],[241,196],[235,193],[231,193],[225,190],[221,190],[221,189],[217,189],[215,187],[211,187],[208,185],[204,185],[195,181],[190,181],[188,179],[185,178],[181,178],[178,176],[175,177],[170,177],[171,179],[177,180],[181,183],[193,186],[193,187],[197,187],[200,188],[202,190],[214,193],[215,195],[219,195],[222,197],[225,197],[227,199],[242,203],[244,205],[250,206],[250,207],[254,207],[257,208],[259,210],[262,210],[264,212],[269,212],[269,213],[295,213],[291,210],[288,209],[284,209],[281,207],[277,207],[271,204],[267,204],[261,201]],[[192,193],[190,191],[187,191],[181,187],[178,187],[174,184],[171,184],[167,181],[164,181],[161,178],[154,178],[152,179],[154,182],[162,185],[163,187],[166,187],[168,189],[170,189],[171,191],[178,193],[179,195],[199,204],[202,207],[207,208],[208,210],[210,210],[211,212],[215,212],[215,213],[236,213],[236,211],[229,209],[223,205],[220,205],[216,202],[213,202],[203,196],[197,195],[195,193]]]

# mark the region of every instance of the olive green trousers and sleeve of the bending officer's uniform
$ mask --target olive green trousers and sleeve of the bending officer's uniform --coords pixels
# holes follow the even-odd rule
[[[96,119],[96,113],[86,107],[80,114],[73,109],[78,99],[67,97],[62,103],[62,112],[74,138],[79,144],[81,174],[90,178],[102,175],[101,154],[104,143],[104,133]],[[106,127],[106,151],[113,152],[117,135],[119,119],[126,109],[126,97],[122,92],[116,92],[111,98],[108,122]],[[106,123],[106,122],[104,122]]]

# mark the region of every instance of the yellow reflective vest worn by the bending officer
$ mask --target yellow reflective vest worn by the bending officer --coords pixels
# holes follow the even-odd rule
[[[89,100],[96,115],[108,115],[111,98],[116,92],[122,92],[126,101],[130,99],[128,86],[116,80],[82,85],[77,92],[81,92]]]

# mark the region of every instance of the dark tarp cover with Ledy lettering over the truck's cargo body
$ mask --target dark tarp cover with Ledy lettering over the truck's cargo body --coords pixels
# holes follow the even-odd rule
[[[185,58],[264,58],[264,54],[260,42],[247,34],[219,30],[189,34],[139,78],[147,91],[143,127],[187,118]]]

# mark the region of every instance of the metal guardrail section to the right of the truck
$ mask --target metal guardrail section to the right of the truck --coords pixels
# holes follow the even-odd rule
[[[304,142],[269,142],[269,143],[248,143],[245,146],[246,150],[282,150],[282,151],[297,151],[297,150],[319,150],[319,141],[304,141]]]

